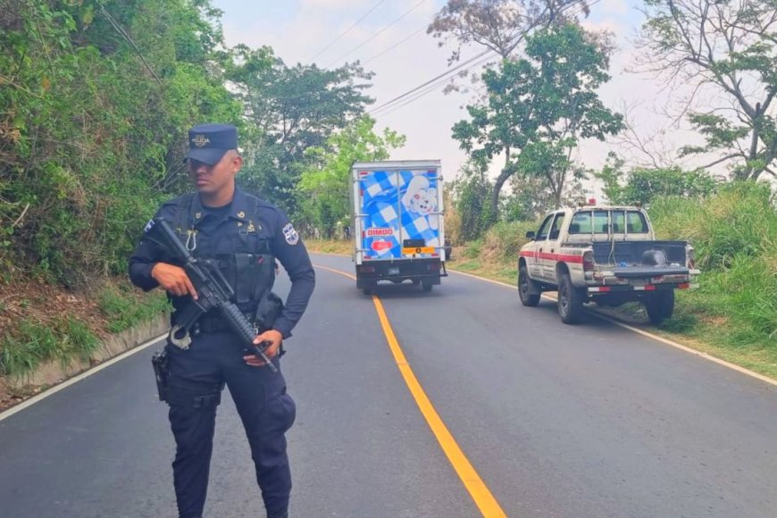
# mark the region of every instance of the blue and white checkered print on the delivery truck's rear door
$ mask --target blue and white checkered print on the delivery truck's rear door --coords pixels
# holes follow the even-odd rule
[[[364,229],[394,230],[393,236],[364,236],[362,246],[369,250],[368,255],[380,259],[402,257],[402,243],[399,241],[400,226],[404,239],[423,239],[426,246],[441,246],[439,230],[432,229],[429,221],[430,218],[438,216],[414,213],[400,205],[407,185],[418,174],[427,177],[430,188],[438,187],[434,171],[372,171],[361,178],[363,212],[366,214]],[[387,242],[390,247],[381,247],[382,243],[380,243],[376,249],[373,247],[376,241]],[[430,257],[430,255],[421,256]]]

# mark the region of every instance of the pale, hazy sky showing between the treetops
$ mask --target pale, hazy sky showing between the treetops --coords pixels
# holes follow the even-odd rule
[[[440,47],[439,39],[425,30],[445,4],[445,0],[213,0],[223,11],[221,21],[229,46],[272,46],[288,65],[316,63],[333,68],[360,60],[366,70],[375,72],[368,94],[376,101],[368,112],[447,71],[453,47]],[[672,112],[673,101],[667,100],[669,92],[663,85],[648,74],[626,71],[637,52],[633,42],[643,21],[638,9],[641,2],[589,0],[589,4],[591,13],[583,25],[612,31],[617,45],[611,60],[612,79],[600,88],[604,104],[621,113],[628,107],[639,137],[656,138],[658,150],[671,152],[684,144],[698,144],[698,136],[687,124],[678,127],[673,117],[664,114]],[[465,48],[462,60],[483,50],[481,46]],[[391,158],[439,159],[444,175],[452,178],[466,156],[451,137],[451,128],[467,118],[464,105],[472,102],[472,95],[446,95],[437,88],[413,103],[375,113],[378,129],[395,129],[407,138]],[[595,140],[581,143],[575,158],[586,167],[600,168],[609,151],[620,153],[627,163],[647,160],[622,143]],[[492,174],[498,168],[499,163],[492,164]]]

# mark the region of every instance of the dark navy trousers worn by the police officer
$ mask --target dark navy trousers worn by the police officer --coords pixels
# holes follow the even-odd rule
[[[193,337],[188,350],[168,344],[167,351],[169,417],[176,443],[172,472],[180,518],[203,514],[224,384],[246,429],[267,514],[287,513],[291,472],[284,434],[294,423],[296,406],[286,393],[280,359],[273,359],[279,372],[246,365],[243,347],[230,332],[202,333]]]

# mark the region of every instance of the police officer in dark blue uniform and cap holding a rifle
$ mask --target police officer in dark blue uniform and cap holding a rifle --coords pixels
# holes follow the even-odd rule
[[[267,515],[286,517],[291,474],[284,434],[294,422],[296,407],[280,372],[281,341],[291,336],[305,312],[315,284],[313,266],[286,215],[236,185],[243,159],[234,126],[203,124],[191,129],[186,157],[196,193],[164,204],[155,217],[171,221],[192,255],[218,262],[234,288],[233,302],[249,320],[258,316],[260,301],[270,293],[276,258],[288,272],[291,289],[272,329],[255,339],[257,345],[272,342],[265,354],[278,372],[249,354],[226,322],[210,312],[197,322],[187,349],[170,341],[165,347],[179,514],[182,518],[203,514],[216,406],[226,384],[246,429]],[[173,324],[197,297],[186,272],[150,238],[143,238],[130,257],[129,278],[146,291],[158,286],[167,291],[174,307]]]

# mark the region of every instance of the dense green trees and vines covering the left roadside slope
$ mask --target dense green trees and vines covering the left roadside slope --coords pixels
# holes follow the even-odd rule
[[[123,272],[180,178],[182,132],[239,118],[205,0],[3,0],[0,263],[76,286]]]

